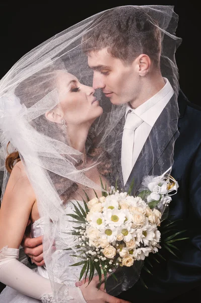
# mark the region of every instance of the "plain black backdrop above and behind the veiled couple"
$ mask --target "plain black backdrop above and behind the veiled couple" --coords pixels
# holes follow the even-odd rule
[[[182,43],[176,52],[176,61],[179,70],[180,88],[190,102],[201,106],[199,96],[200,70],[200,25],[201,14],[193,1],[172,2],[124,2],[124,1],[81,2],[71,1],[33,1],[14,4],[1,1],[0,4],[0,78],[23,55],[32,48],[50,38],[54,34],[78,23],[85,18],[106,9],[122,5],[173,5],[179,15],[176,35],[182,38]],[[1,235],[0,235],[1,236]],[[0,284],[1,291],[1,284]],[[196,292],[191,293],[190,298]],[[175,300],[175,302],[177,299]]]

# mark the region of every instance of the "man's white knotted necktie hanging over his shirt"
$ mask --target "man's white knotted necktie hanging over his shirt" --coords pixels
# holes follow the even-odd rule
[[[133,112],[128,112],[123,128],[121,145],[121,168],[123,182],[126,183],[132,170],[132,155],[135,138],[135,130],[143,123],[143,120]]]

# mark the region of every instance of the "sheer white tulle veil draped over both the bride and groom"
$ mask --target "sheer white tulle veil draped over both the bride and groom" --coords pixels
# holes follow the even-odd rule
[[[73,148],[68,138],[63,135],[62,125],[47,121],[45,113],[54,109],[60,102],[56,85],[59,71],[71,73],[81,83],[92,86],[93,71],[88,67],[86,52],[93,51],[93,48],[87,49],[90,45],[90,36],[92,37],[95,32],[97,34],[106,22],[105,18],[110,22],[108,16],[115,14],[120,24],[126,20],[127,14],[132,12],[136,14],[139,11],[142,15],[148,16],[148,22],[153,22],[153,26],[161,32],[161,71],[162,75],[168,78],[175,92],[171,107],[166,109],[166,127],[162,131],[166,132],[167,136],[174,134],[175,139],[178,135],[179,116],[177,106],[179,84],[175,51],[180,39],[175,36],[178,16],[172,6],[125,6],[91,16],[32,49],[0,81],[2,196],[10,176],[5,168],[5,160],[8,153],[17,150],[35,191],[40,217],[44,218],[43,255],[58,302],[64,300],[66,292],[63,287],[57,287],[57,281],[65,285],[65,290],[68,289],[70,269],[68,266],[59,268],[56,265],[59,254],[55,257],[52,245],[56,242],[62,254],[66,251],[63,249],[67,248],[73,248],[76,252],[77,243],[74,241],[74,236],[66,236],[65,233],[68,231],[68,220],[70,220],[65,215],[66,205],[74,194],[83,196],[83,189],[86,186],[100,190],[100,184],[95,181],[99,177],[93,175],[94,165],[98,167],[100,175],[108,180],[108,184],[114,185],[111,183],[117,177],[119,184],[122,184],[117,154],[121,147],[125,105],[111,105],[101,92],[97,92],[104,113],[92,124],[86,141],[87,154],[94,164],[93,168],[87,168],[88,172],[92,171],[91,175],[83,174],[76,168],[83,154]],[[139,41],[140,39],[141,36]],[[160,155],[162,147],[158,136],[156,130],[157,140],[153,144],[158,146],[157,155]],[[151,139],[150,142],[152,144]],[[8,143],[9,147],[7,147]],[[158,174],[162,174],[173,164],[173,148],[174,140],[166,153],[161,155]],[[154,159],[153,156],[147,161],[154,162]],[[148,165],[141,167],[143,177],[150,173],[147,167]],[[136,190],[140,188],[141,183]],[[135,277],[139,277],[140,271],[137,272]],[[133,279],[121,279],[118,291],[116,288],[115,291],[125,290],[133,283]]]

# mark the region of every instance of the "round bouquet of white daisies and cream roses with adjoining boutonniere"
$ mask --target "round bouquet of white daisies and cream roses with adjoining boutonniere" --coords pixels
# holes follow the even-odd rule
[[[117,187],[104,189],[102,196],[96,192],[93,199],[84,199],[83,207],[74,204],[75,214],[68,214],[80,225],[72,231],[78,241],[78,255],[82,261],[71,266],[83,265],[80,280],[89,276],[89,283],[94,272],[102,275],[106,282],[108,274],[115,277],[118,267],[135,266],[138,260],[145,260],[150,252],[155,254],[160,246],[161,233],[158,227],[163,220],[162,214],[171,201],[171,195],[177,191],[178,183],[171,176],[148,176],[140,193],[130,195],[119,192]],[[172,193],[174,191],[174,193]]]

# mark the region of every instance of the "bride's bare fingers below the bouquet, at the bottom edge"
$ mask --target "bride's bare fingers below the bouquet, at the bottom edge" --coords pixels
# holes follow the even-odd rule
[[[84,281],[76,283],[76,286],[79,286],[82,294],[87,303],[130,303],[128,301],[116,298],[112,295],[109,295],[107,292],[101,290],[103,288],[98,289],[99,277],[96,276],[93,280],[89,283],[84,283]]]

